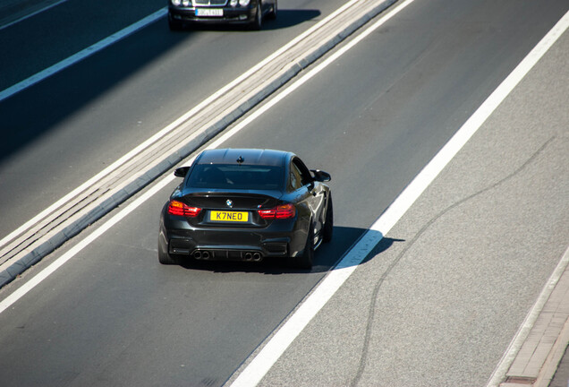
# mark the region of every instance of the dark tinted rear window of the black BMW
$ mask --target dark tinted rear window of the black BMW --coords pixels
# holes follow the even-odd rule
[[[281,190],[283,168],[239,164],[199,164],[191,170],[192,188]]]

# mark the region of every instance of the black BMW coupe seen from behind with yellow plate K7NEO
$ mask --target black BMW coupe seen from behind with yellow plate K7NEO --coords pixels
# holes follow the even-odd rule
[[[310,269],[332,238],[330,175],[280,150],[204,150],[160,218],[158,260],[286,260]]]

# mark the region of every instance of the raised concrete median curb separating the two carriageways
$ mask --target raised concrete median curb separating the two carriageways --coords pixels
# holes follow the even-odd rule
[[[174,168],[395,1],[352,0],[347,11],[319,22],[298,45],[289,47],[258,73],[235,85],[200,112],[202,114],[187,117],[164,137],[59,206],[44,222],[13,236],[0,246],[0,287]],[[217,106],[227,108],[220,110]]]

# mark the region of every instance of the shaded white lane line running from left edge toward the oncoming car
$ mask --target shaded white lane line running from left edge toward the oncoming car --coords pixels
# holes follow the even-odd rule
[[[140,20],[139,22],[135,22],[134,24],[120,30],[109,37],[99,40],[94,45],[87,47],[77,54],[69,56],[68,58],[64,59],[63,61],[56,63],[47,69],[40,71],[39,73],[35,73],[34,75],[30,76],[21,82],[16,83],[15,85],[0,91],[0,102],[4,99],[12,97],[14,94],[20,92],[21,90],[27,89],[30,86],[45,80],[47,77],[52,76],[55,73],[59,73],[60,71],[64,70],[65,68],[71,66],[72,64],[76,64],[81,60],[85,59],[88,56],[92,56],[93,54],[97,53],[98,51],[109,47],[110,45],[116,43],[117,41],[126,38],[127,36],[131,35],[132,33],[140,30],[147,25],[156,22],[158,19],[164,17],[166,15],[167,8],[162,8],[155,13],[149,14],[149,16],[145,17],[144,19]]]

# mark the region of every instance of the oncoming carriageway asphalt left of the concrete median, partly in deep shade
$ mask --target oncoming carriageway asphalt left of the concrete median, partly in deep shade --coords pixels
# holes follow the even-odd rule
[[[150,24],[64,72],[0,102],[0,193],[6,236],[278,47],[340,1],[288,2],[262,33],[172,33]],[[68,1],[0,30],[0,89],[57,64],[166,4]],[[123,8],[122,8],[123,7]],[[56,27],[55,27],[56,21]],[[39,192],[30,187],[41,187]]]

